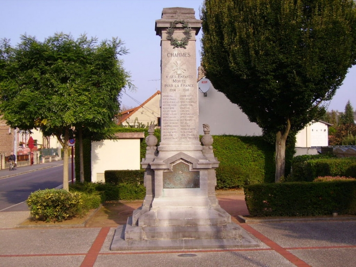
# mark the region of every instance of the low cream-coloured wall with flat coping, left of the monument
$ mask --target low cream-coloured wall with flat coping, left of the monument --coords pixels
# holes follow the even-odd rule
[[[92,182],[105,182],[105,170],[139,170],[144,133],[117,133],[116,139],[92,142]]]

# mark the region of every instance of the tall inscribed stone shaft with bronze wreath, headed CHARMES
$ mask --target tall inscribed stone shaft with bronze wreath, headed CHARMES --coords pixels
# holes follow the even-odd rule
[[[200,24],[194,10],[187,8],[165,8],[162,18],[156,21],[156,34],[161,37],[160,144],[163,146],[200,144],[196,63]]]

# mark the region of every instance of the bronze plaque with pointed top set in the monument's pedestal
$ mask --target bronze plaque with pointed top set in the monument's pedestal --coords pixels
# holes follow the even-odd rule
[[[172,170],[163,172],[163,188],[199,188],[199,171],[189,171],[189,165],[182,162]]]

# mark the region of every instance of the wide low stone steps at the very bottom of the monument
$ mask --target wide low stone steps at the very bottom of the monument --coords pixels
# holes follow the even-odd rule
[[[173,231],[173,232],[172,232]],[[126,233],[125,233],[126,232]],[[162,239],[148,239],[150,233],[161,236]],[[184,238],[196,233],[196,238]],[[224,233],[228,233],[230,238],[224,238]],[[233,232],[233,233],[232,233]],[[130,233],[132,238],[125,239],[125,235]],[[164,239],[164,236],[182,236],[179,239]],[[136,236],[135,236],[136,235]],[[147,236],[148,235],[148,236]],[[201,238],[205,237],[205,238]],[[141,239],[143,238],[143,239]],[[159,226],[143,229],[140,226],[118,226],[116,229],[111,250],[162,250],[162,249],[213,249],[213,248],[234,248],[234,247],[256,247],[257,242],[253,240],[245,230],[237,224],[231,223],[226,226]]]

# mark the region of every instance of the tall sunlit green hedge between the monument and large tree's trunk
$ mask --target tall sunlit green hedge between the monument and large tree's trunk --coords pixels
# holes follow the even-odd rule
[[[274,146],[260,136],[215,135],[214,154],[220,162],[217,188],[273,182]]]

